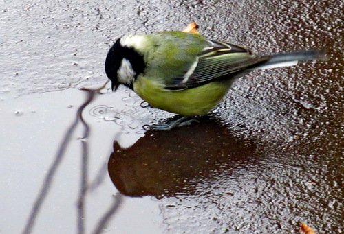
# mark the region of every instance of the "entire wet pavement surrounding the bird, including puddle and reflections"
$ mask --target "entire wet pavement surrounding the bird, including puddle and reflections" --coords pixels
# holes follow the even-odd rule
[[[343,233],[341,1],[6,1],[0,233]],[[169,132],[107,80],[114,39],[181,30],[327,62],[255,71]],[[87,102],[87,100],[89,102]],[[82,115],[80,115],[82,110]]]

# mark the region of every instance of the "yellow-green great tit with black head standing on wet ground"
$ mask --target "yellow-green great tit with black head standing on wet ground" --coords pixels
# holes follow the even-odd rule
[[[155,124],[155,130],[170,130],[189,117],[206,115],[235,80],[251,71],[325,60],[325,53],[316,49],[253,54],[245,47],[190,31],[127,34],[107,53],[105,73],[113,91],[125,85],[153,108],[182,116],[171,124]]]

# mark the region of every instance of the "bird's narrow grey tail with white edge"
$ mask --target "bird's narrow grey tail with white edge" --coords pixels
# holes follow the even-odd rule
[[[266,62],[263,62],[250,70],[268,69],[274,67],[288,67],[297,65],[299,62],[308,62],[321,60],[325,61],[326,54],[323,51],[309,50],[309,51],[296,51],[286,54],[273,54],[267,56]]]

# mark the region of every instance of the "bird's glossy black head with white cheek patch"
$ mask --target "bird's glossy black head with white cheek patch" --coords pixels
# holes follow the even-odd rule
[[[146,68],[142,54],[133,47],[122,45],[120,38],[109,49],[105,60],[105,73],[116,91],[120,84],[133,89],[133,82]]]

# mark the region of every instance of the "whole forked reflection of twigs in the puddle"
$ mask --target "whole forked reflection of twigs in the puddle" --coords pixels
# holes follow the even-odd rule
[[[50,166],[50,169],[47,171],[47,176],[45,176],[45,179],[43,181],[42,189],[39,191],[39,195],[37,196],[32,210],[30,212],[30,216],[28,218],[28,222],[25,224],[25,228],[23,230],[23,233],[32,233],[32,229],[34,227],[34,222],[36,221],[37,215],[39,214],[39,211],[41,210],[43,206],[43,202],[45,201],[45,198],[50,191],[50,187],[52,186],[53,178],[58,170],[58,167],[61,165],[61,162],[64,159],[65,152],[67,150],[67,146],[71,142],[72,135],[76,129],[76,126],[78,125],[78,122],[80,121],[81,124],[83,124],[84,127],[84,133],[83,137],[80,138],[80,142],[82,143],[82,155],[81,155],[81,169],[80,169],[80,187],[79,187],[79,196],[78,196],[78,202],[77,202],[77,227],[78,227],[78,233],[85,233],[85,197],[87,195],[87,191],[90,189],[94,189],[97,185],[100,184],[98,181],[101,176],[97,176],[96,181],[91,183],[91,187],[88,187],[89,181],[88,181],[88,164],[89,164],[89,150],[88,150],[88,143],[87,139],[89,138],[89,126],[83,119],[83,110],[86,106],[88,106],[96,97],[96,94],[99,93],[101,89],[105,87],[107,83],[104,84],[104,86],[100,87],[99,89],[83,89],[83,91],[87,92],[87,97],[85,99],[85,102],[80,105],[78,108],[78,111],[76,113],[76,119],[73,121],[73,123],[67,128],[67,132],[65,133],[65,136],[63,136],[63,141],[61,145],[58,148],[58,151],[56,152],[56,156],[54,158],[54,161],[52,162],[52,165]],[[104,226],[109,222],[109,219],[112,215],[117,211],[118,207],[120,207],[120,204],[122,203],[122,196],[118,194],[116,196],[116,199],[114,200],[113,204],[111,204],[111,207],[109,207],[108,211],[105,212],[102,218],[100,218],[98,224],[96,225],[96,229],[94,230],[94,233],[101,233],[103,231]]]

